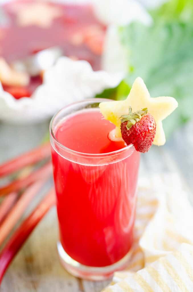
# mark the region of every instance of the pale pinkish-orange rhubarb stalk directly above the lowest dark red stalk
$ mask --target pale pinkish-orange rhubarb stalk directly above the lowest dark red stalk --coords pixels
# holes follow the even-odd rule
[[[32,199],[36,196],[38,191],[43,187],[45,180],[39,180],[37,183],[29,186],[25,192],[22,194],[17,203],[13,206],[11,211],[8,213],[7,217],[0,225],[0,245],[8,236],[9,232],[15,226],[17,221],[22,217],[27,206],[30,204]],[[10,195],[7,197],[9,198]]]

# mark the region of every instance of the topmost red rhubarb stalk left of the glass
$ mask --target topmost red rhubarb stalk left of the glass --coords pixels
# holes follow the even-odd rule
[[[50,156],[50,143],[45,143],[40,147],[26,152],[15,159],[12,159],[0,166],[0,177],[9,175],[15,171],[20,170],[21,168],[35,164],[42,159],[45,159]]]

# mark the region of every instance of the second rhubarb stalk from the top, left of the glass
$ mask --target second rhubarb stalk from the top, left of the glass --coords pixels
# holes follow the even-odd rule
[[[0,187],[0,196],[4,196],[11,192],[17,192],[25,187],[28,187],[29,185],[31,185],[37,180],[42,180],[44,178],[47,178],[48,175],[51,175],[51,173],[52,173],[52,164],[51,162],[48,162],[47,164],[33,171],[26,177],[19,178],[6,186]]]

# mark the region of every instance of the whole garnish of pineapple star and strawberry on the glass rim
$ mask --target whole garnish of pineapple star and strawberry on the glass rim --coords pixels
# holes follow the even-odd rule
[[[147,152],[152,144],[166,142],[162,120],[178,107],[178,102],[169,96],[151,98],[138,77],[125,100],[101,102],[99,107],[104,118],[116,126],[109,133],[110,140],[123,139],[137,151]]]

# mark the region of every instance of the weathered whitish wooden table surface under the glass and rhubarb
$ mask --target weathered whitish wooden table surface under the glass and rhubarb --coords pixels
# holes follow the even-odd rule
[[[35,126],[0,124],[0,162],[29,150],[41,141],[48,123]],[[141,155],[140,177],[175,173],[193,203],[193,123],[176,131],[163,147],[152,147]],[[52,182],[50,182],[51,184]],[[49,184],[38,194],[33,205],[41,199]],[[25,216],[33,206],[26,211]],[[68,274],[60,265],[56,241],[58,237],[56,210],[52,208],[36,227],[10,265],[0,292],[99,292],[109,281],[82,281]]]

